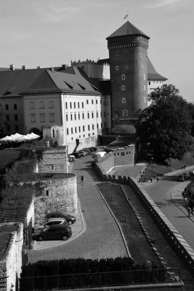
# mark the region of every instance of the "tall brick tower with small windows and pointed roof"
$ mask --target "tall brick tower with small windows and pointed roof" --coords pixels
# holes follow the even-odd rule
[[[127,21],[106,39],[110,57],[112,130],[135,133],[138,110],[147,107],[149,37]]]

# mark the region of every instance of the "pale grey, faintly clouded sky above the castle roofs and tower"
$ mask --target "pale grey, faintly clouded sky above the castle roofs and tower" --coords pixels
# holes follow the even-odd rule
[[[0,4],[0,67],[70,65],[109,57],[106,37],[127,20],[150,37],[156,71],[194,102],[193,0],[6,0]]]

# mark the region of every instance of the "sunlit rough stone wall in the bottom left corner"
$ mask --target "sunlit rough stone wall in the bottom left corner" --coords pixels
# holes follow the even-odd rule
[[[16,277],[20,277],[22,266],[23,224],[18,224],[18,229],[11,235],[8,248],[0,261],[0,276],[7,276],[5,288],[2,291],[16,290]]]

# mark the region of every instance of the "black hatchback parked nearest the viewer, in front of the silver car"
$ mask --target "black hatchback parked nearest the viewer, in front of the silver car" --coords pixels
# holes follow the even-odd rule
[[[41,229],[38,229],[34,234],[33,238],[36,241],[55,241],[63,240],[66,241],[72,236],[72,230],[70,226],[57,225],[57,226],[47,226]]]

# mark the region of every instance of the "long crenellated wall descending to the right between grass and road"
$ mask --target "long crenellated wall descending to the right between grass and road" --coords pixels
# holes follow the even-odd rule
[[[179,234],[178,230],[171,224],[167,217],[162,213],[150,196],[146,193],[140,183],[134,178],[125,176],[106,175],[104,168],[96,164],[96,169],[103,181],[129,185],[134,191],[142,205],[145,207],[153,222],[161,231],[163,237],[171,246],[178,258],[185,265],[187,270],[194,276],[194,250]]]

